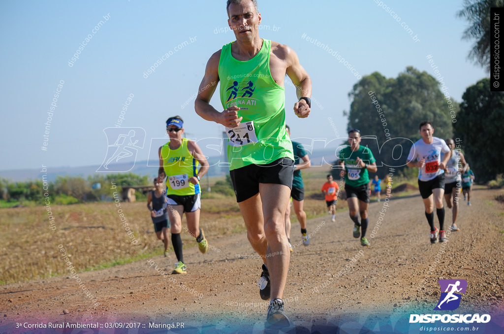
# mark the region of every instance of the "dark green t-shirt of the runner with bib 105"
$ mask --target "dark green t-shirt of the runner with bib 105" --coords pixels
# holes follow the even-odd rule
[[[367,146],[359,146],[359,149],[352,152],[350,146],[340,151],[340,160],[345,161],[345,184],[351,187],[359,187],[369,183],[369,174],[367,169],[357,165],[357,157],[361,158],[367,164],[371,164],[376,159]]]

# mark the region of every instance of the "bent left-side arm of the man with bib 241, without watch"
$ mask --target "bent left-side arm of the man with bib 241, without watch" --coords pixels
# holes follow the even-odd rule
[[[234,128],[240,124],[242,117],[238,117],[238,107],[229,107],[223,112],[217,111],[210,105],[210,99],[215,93],[219,82],[219,60],[221,50],[215,52],[207,62],[205,76],[200,84],[198,96],[194,104],[196,113],[207,121],[216,122]]]

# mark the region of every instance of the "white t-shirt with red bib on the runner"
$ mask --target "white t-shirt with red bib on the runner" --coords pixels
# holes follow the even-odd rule
[[[420,138],[411,146],[408,161],[420,161],[425,158],[425,165],[423,168],[418,169],[418,179],[420,181],[430,181],[445,173],[442,169],[439,169],[442,152],[450,152],[450,147],[443,139],[437,137],[432,137],[432,144],[426,144]]]

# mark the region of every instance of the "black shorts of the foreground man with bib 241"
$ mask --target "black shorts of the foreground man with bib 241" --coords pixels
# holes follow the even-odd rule
[[[284,185],[292,189],[294,161],[280,158],[267,164],[249,164],[229,171],[236,202],[243,202],[259,193],[260,183]]]

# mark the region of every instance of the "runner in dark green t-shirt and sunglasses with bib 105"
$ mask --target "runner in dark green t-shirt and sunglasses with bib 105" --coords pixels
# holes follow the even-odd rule
[[[345,191],[347,194],[348,210],[350,218],[354,222],[353,237],[360,236],[360,244],[368,246],[369,241],[366,239],[366,230],[369,219],[367,218],[367,207],[369,206],[369,172],[375,173],[376,160],[373,153],[367,146],[360,145],[360,131],[352,129],[348,132],[348,142],[350,146],[346,146],[340,151],[339,165],[341,170],[340,176],[345,176]],[[360,222],[359,222],[360,212]]]

